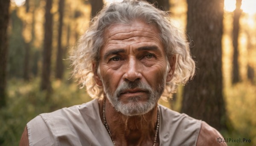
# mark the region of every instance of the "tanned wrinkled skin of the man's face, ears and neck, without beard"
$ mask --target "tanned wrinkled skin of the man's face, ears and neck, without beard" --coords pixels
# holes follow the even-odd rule
[[[117,145],[153,145],[157,122],[157,101],[163,93],[166,81],[172,79],[175,56],[166,59],[159,31],[153,25],[134,21],[129,25],[115,24],[105,32],[105,45],[100,51],[99,72],[93,63],[94,78],[104,87],[106,118]],[[170,68],[167,69],[168,63]],[[159,92],[147,113],[124,115],[113,105],[113,93],[124,82],[143,82]],[[162,85],[162,86],[161,86]],[[108,90],[108,91],[106,91]],[[119,103],[135,108],[137,103],[149,100],[148,91],[135,87],[119,94]],[[131,100],[133,99],[133,100]],[[114,107],[113,107],[114,106]],[[102,101],[100,101],[102,109]],[[100,111],[102,111],[100,109]]]

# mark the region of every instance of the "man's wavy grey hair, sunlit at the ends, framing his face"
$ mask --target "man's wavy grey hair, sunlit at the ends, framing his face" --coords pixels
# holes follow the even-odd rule
[[[70,56],[73,77],[78,79],[80,88],[86,86],[87,93],[92,98],[103,97],[102,86],[97,86],[93,78],[92,62],[99,64],[99,52],[104,45],[105,30],[113,24],[130,24],[137,19],[157,27],[167,59],[176,55],[172,80],[166,82],[161,98],[166,100],[167,97],[172,97],[172,94],[176,92],[177,85],[184,85],[194,76],[195,62],[190,54],[189,43],[184,33],[172,25],[167,12],[157,9],[143,0],[114,2],[104,6],[92,19],[89,29],[81,36]]]

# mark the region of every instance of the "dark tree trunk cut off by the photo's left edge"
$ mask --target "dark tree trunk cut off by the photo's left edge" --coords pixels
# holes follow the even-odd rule
[[[0,1],[0,108],[6,105],[7,26],[10,0]]]

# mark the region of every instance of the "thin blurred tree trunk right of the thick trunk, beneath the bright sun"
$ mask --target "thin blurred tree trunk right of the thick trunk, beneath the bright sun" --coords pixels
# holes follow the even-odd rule
[[[241,3],[242,0],[236,0],[236,9],[234,11],[234,20],[233,20],[233,76],[232,76],[232,83],[238,83],[240,80],[239,75],[239,63],[238,63],[238,35],[239,35],[239,18],[241,16]]]

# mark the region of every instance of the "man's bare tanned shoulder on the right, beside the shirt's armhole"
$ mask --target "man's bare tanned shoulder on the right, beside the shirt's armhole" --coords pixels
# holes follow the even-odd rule
[[[227,146],[226,143],[221,142],[222,139],[222,135],[216,129],[202,121],[196,146]]]

